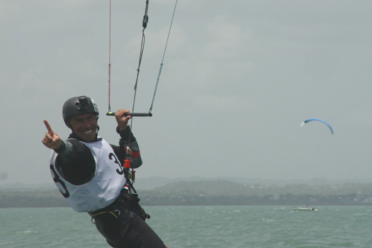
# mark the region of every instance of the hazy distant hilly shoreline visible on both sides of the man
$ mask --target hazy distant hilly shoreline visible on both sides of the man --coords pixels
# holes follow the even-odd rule
[[[169,183],[154,190],[138,190],[143,206],[165,205],[372,205],[372,184],[309,186],[248,185],[231,181]],[[67,207],[57,189],[1,191],[0,207]]]

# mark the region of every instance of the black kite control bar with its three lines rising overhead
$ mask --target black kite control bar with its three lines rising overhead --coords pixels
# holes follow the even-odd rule
[[[176,0],[176,3],[174,4],[173,15],[172,15],[172,19],[171,19],[170,26],[169,26],[169,32],[168,32],[168,36],[167,36],[166,45],[165,45],[165,48],[164,48],[163,58],[161,59],[161,64],[160,64],[159,73],[158,73],[158,77],[157,77],[156,84],[155,84],[155,90],[154,90],[154,95],[153,95],[153,100],[151,102],[150,110],[147,113],[135,113],[134,112],[134,105],[135,105],[135,99],[136,99],[136,94],[137,94],[138,76],[140,74],[140,66],[141,66],[141,61],[142,61],[142,54],[143,54],[144,45],[145,45],[145,29],[146,29],[147,23],[148,23],[148,15],[147,15],[148,0],[146,0],[145,14],[144,14],[143,20],[142,20],[142,28],[143,28],[142,29],[142,41],[141,41],[141,49],[140,49],[140,59],[138,61],[138,68],[137,68],[137,77],[136,77],[136,81],[135,81],[135,85],[134,85],[134,97],[133,97],[132,112],[126,113],[125,116],[128,116],[128,115],[129,116],[132,116],[132,117],[134,117],[134,116],[137,116],[137,117],[153,116],[153,114],[151,113],[151,110],[153,109],[153,104],[154,104],[154,100],[155,100],[155,94],[156,94],[156,90],[157,90],[159,79],[160,79],[161,69],[163,67],[163,61],[164,61],[164,57],[165,57],[165,52],[167,50],[167,45],[168,45],[170,30],[172,28],[174,13],[176,12],[176,6],[177,6],[177,0]],[[108,80],[108,82],[109,82],[109,93],[108,93],[108,96],[109,96],[109,110],[106,113],[106,115],[108,115],[108,116],[115,116],[115,112],[111,112],[111,107],[110,107],[110,83],[111,83],[110,82],[110,74],[111,74],[111,68],[110,68],[111,67],[111,63],[110,63],[110,57],[111,57],[111,0],[110,0],[110,8],[109,9],[110,9],[110,17],[109,17],[109,80]]]

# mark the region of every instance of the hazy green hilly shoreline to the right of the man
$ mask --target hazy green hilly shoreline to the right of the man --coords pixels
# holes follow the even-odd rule
[[[372,205],[372,184],[265,186],[226,180],[180,181],[141,191],[143,205]]]

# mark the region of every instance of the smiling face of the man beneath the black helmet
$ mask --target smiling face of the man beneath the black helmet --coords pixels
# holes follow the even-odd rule
[[[74,115],[68,120],[70,128],[85,142],[96,138],[97,117],[94,113]]]

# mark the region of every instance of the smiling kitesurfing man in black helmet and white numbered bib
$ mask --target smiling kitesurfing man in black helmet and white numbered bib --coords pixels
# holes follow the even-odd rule
[[[129,168],[122,168],[124,160],[131,168],[142,165],[137,141],[128,126],[131,116],[126,113],[126,109],[115,113],[121,138],[119,146],[110,145],[97,134],[99,112],[93,99],[72,97],[62,107],[64,122],[72,133],[62,140],[44,120],[48,132],[42,143],[53,149],[50,169],[62,195],[74,210],[92,216],[112,247],[164,248],[163,241],[145,223],[150,216],[138,204],[140,199],[131,193]]]

